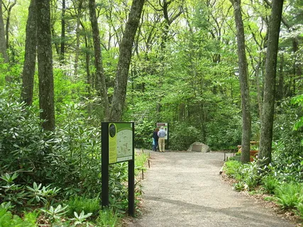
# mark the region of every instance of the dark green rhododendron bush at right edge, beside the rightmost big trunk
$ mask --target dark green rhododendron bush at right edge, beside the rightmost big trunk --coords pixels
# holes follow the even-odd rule
[[[272,166],[280,182],[303,182],[303,130],[299,122],[302,116],[301,97],[282,101],[277,108],[275,118]],[[294,105],[295,104],[295,105]]]

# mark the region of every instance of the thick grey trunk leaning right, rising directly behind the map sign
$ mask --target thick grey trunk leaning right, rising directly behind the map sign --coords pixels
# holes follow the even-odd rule
[[[133,49],[133,41],[141,18],[144,1],[145,0],[133,0],[131,12],[129,13],[128,21],[126,23],[116,71],[114,95],[111,104],[111,114],[109,117],[109,120],[111,121],[120,121],[123,113],[123,106],[126,99],[128,70],[131,63],[131,50]]]

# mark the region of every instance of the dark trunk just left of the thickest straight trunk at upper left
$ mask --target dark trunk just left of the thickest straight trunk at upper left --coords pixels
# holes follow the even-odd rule
[[[28,21],[26,23],[26,52],[22,73],[21,99],[27,105],[31,105],[33,103],[33,82],[37,55],[37,16],[35,14],[35,1],[36,0],[31,0],[31,5],[28,8]]]

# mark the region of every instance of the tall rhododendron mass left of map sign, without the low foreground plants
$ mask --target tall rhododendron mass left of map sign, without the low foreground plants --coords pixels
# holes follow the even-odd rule
[[[1,98],[0,175],[18,171],[16,185],[53,184],[62,195],[99,193],[100,130],[83,126],[76,109],[66,111],[67,123],[50,133],[41,128],[38,109]]]

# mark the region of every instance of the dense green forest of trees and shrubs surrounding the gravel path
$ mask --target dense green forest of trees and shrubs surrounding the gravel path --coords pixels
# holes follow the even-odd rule
[[[0,215],[115,221],[98,214],[102,121],[135,122],[144,149],[166,122],[170,150],[242,145],[243,163],[260,141],[260,161],[231,162],[238,188],[302,186],[302,41],[301,0],[0,0]],[[126,172],[111,166],[120,213]],[[303,216],[300,198],[285,208]]]

